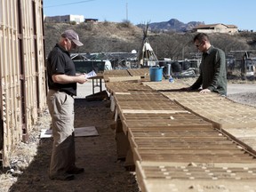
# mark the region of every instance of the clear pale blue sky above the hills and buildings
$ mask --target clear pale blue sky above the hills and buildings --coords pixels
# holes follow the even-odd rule
[[[128,19],[134,25],[171,19],[204,21],[256,31],[255,7],[255,0],[44,0],[44,15],[75,14],[113,22]]]

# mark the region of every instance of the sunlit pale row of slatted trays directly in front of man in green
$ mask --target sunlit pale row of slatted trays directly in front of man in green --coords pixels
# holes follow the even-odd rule
[[[152,85],[148,84],[154,89]],[[170,89],[168,84],[162,84],[161,89],[160,92],[170,100],[211,122],[220,132],[243,144],[244,148],[256,151],[256,108],[228,100],[219,94],[163,92]]]

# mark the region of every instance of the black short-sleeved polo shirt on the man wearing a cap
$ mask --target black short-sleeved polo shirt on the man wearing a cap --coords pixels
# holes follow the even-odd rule
[[[69,52],[56,44],[47,58],[47,76],[49,89],[67,92],[76,95],[76,83],[57,84],[52,81],[52,75],[65,74],[67,76],[76,76],[76,68]]]

